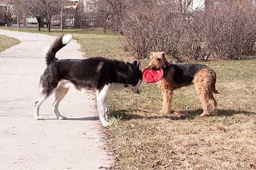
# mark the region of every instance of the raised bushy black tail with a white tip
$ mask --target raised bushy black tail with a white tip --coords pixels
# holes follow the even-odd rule
[[[46,53],[46,65],[48,66],[53,60],[57,59],[55,57],[56,53],[68,44],[72,39],[71,35],[62,35],[58,37],[53,44],[50,46]]]

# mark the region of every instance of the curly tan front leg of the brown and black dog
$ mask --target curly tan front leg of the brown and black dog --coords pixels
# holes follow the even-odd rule
[[[172,94],[173,94],[172,90],[162,89],[163,109],[159,112],[160,114],[167,114],[167,113],[171,112],[171,108],[172,108]]]

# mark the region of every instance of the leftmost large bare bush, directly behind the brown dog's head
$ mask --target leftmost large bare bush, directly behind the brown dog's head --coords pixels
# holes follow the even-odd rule
[[[175,57],[183,25],[179,15],[157,3],[133,1],[130,5],[120,24],[130,52],[137,58],[146,58],[156,51]]]

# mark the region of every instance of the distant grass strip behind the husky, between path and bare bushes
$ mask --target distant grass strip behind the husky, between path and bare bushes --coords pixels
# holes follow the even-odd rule
[[[115,59],[129,58],[129,54],[122,50],[122,44],[117,35],[102,33],[101,28],[88,29],[63,29],[51,28],[51,33],[47,32],[47,28],[41,28],[38,32],[37,28],[16,28],[16,27],[0,27],[0,29],[9,29],[11,31],[23,31],[31,33],[43,33],[52,36],[60,36],[62,34],[71,34],[73,39],[81,44],[81,51],[85,53],[84,57],[105,56]]]

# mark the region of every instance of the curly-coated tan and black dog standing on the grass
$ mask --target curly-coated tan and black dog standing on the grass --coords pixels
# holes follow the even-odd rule
[[[151,69],[163,69],[164,75],[161,80],[156,82],[163,94],[162,114],[171,111],[172,94],[177,88],[195,84],[197,94],[203,104],[204,112],[201,117],[209,116],[210,112],[217,112],[217,101],[213,97],[220,91],[215,89],[216,73],[206,65],[197,63],[171,64],[167,62],[166,54],[162,52],[151,53]]]

